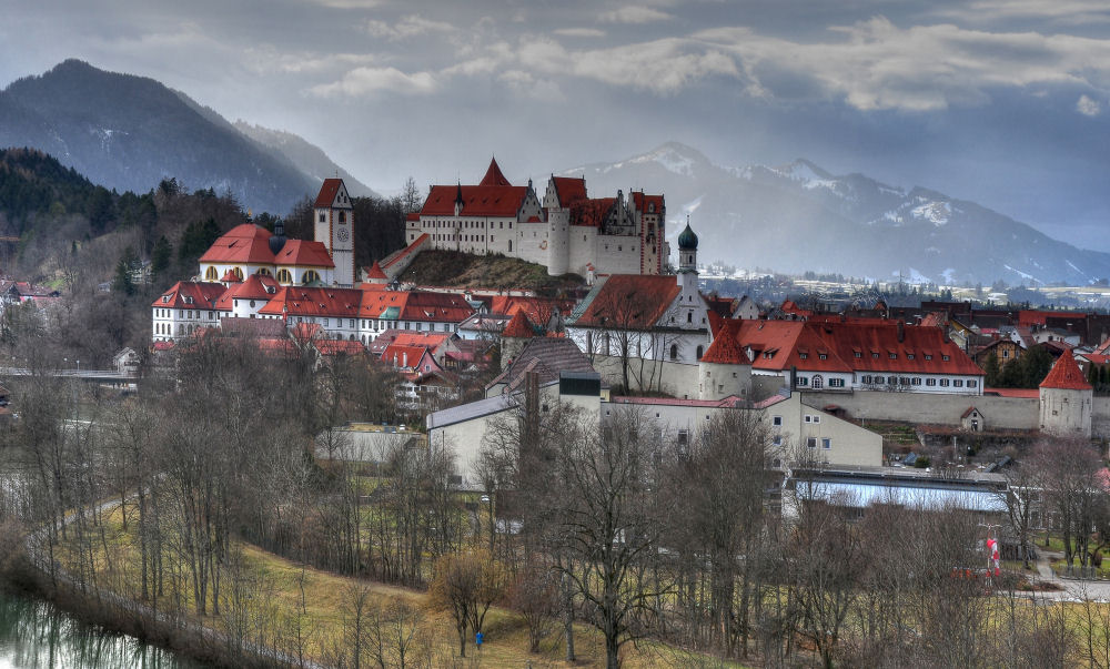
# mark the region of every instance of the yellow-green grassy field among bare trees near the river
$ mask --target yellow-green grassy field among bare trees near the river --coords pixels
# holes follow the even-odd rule
[[[129,516],[131,509],[129,509]],[[128,591],[139,582],[138,544],[134,535],[135,523],[130,521],[123,529],[123,518],[117,508],[105,519],[103,540],[97,541],[93,560],[98,581],[108,584],[110,589]],[[284,559],[249,544],[236,543],[234,547],[241,556],[242,571],[250,575],[248,596],[258,614],[279,620],[300,621],[305,639],[304,651],[313,659],[325,659],[329,649],[342,643],[343,610],[357,588],[369,588],[371,600],[382,605],[396,598],[417,607],[432,639],[433,666],[435,667],[488,667],[534,669],[555,667],[604,667],[605,647],[602,636],[592,627],[575,625],[575,649],[577,662],[567,663],[561,631],[548,637],[538,653],[528,652],[527,627],[522,616],[515,611],[493,608],[486,617],[483,629],[485,643],[476,651],[473,642],[467,643],[467,657],[458,656],[458,637],[454,624],[445,611],[430,606],[426,594],[381,582],[336,576],[319,569]],[[108,551],[113,556],[107,559]],[[75,553],[60,554],[63,564],[75,565]],[[184,576],[184,574],[182,575]],[[231,586],[225,582],[224,595]],[[186,578],[171,579],[162,601],[180,598],[183,608],[194,610],[192,588]],[[164,604],[163,604],[164,606]],[[226,609],[226,606],[225,606]],[[209,611],[211,611],[211,606]],[[205,627],[225,631],[228,620],[211,612],[208,616],[191,615]],[[287,627],[286,622],[286,627]],[[559,626],[559,630],[561,630]],[[473,641],[473,639],[471,639]],[[647,641],[628,643],[624,650],[624,665],[630,668],[646,667],[740,667],[738,663],[720,662],[713,658],[692,655],[663,643]]]

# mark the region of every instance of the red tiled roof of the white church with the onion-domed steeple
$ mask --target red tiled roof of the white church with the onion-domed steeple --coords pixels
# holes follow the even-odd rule
[[[652,327],[680,292],[674,276],[614,274],[602,285],[575,324],[587,327]]]

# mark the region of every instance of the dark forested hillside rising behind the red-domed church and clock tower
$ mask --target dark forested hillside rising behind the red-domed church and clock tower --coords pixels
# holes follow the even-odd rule
[[[353,202],[359,266],[401,247],[400,199]],[[0,236],[19,239],[0,243],[0,275],[60,290],[63,308],[51,311],[34,336],[57,337],[65,356],[92,364],[107,364],[125,345],[145,348],[151,301],[173,282],[196,275],[209,245],[250,220],[232,196],[211,189],[189,192],[176,179],[147,193],[120,194],[40,151],[0,150]],[[276,220],[253,219],[271,230]],[[311,200],[301,200],[287,222],[291,237],[312,239]],[[131,270],[144,261],[150,261],[149,284],[132,280]],[[104,283],[110,291],[100,290]],[[27,331],[0,323],[0,336],[14,332]]]

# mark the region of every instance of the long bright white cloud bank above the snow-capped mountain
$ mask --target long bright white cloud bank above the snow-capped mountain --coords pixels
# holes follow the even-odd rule
[[[804,43],[746,28],[694,37],[736,57],[750,91],[774,94],[776,77],[785,73],[860,110],[981,105],[999,87],[1110,88],[1110,40],[947,23],[901,29],[882,17],[830,30],[842,39]]]

